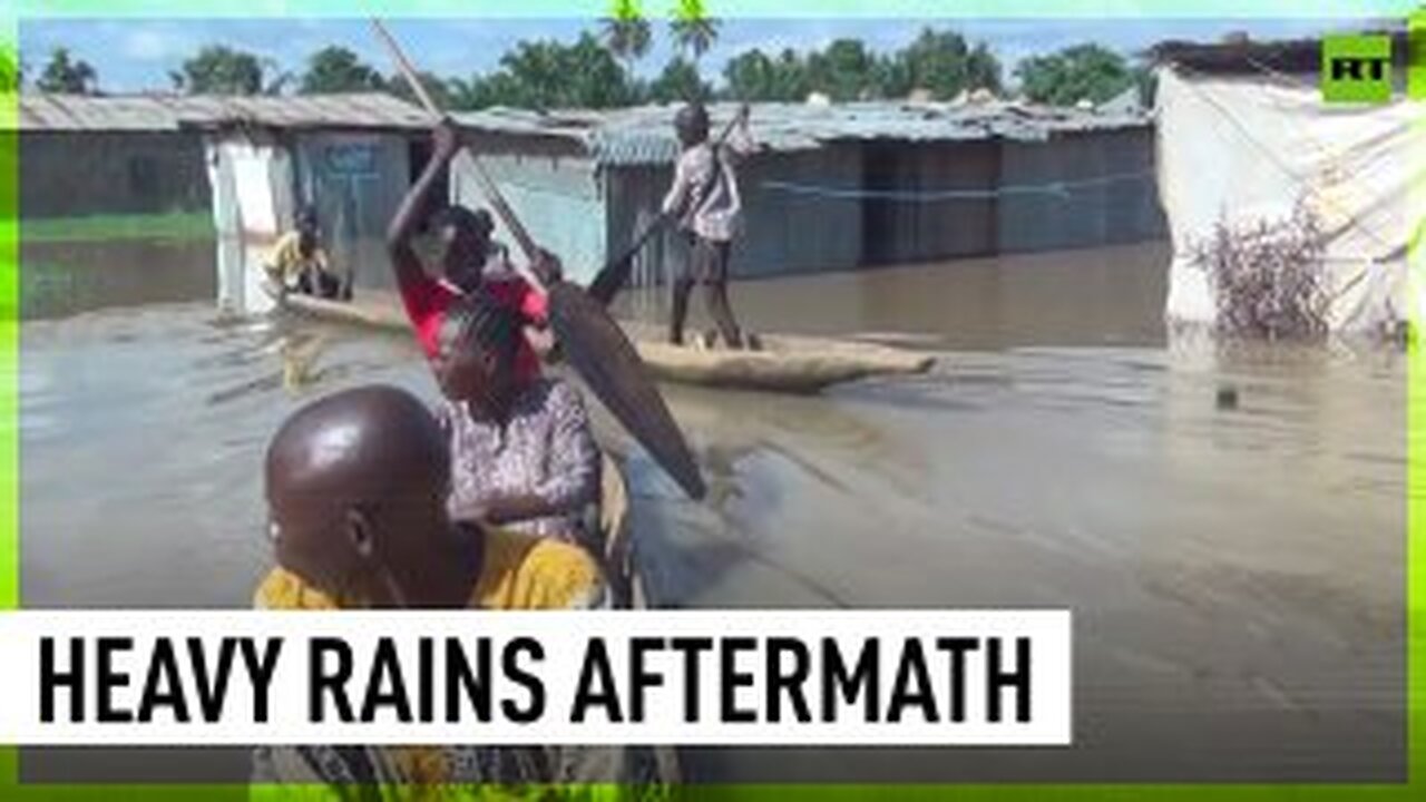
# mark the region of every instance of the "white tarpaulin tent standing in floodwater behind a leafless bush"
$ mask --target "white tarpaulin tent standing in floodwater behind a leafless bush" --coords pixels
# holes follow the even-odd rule
[[[1303,201],[1328,233],[1326,318],[1335,331],[1410,317],[1407,241],[1426,181],[1423,104],[1328,104],[1310,78],[1158,73],[1158,186],[1174,243],[1165,314],[1214,323],[1191,248],[1219,220],[1288,218]],[[1415,204],[1413,204],[1415,201]],[[1417,304],[1417,310],[1422,307]]]

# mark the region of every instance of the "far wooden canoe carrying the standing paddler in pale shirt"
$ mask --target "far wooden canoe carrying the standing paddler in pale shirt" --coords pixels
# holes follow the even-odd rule
[[[391,297],[337,303],[288,295],[284,308],[334,323],[408,330],[405,314]],[[662,330],[650,325],[623,325],[655,377],[683,384],[810,394],[863,378],[925,372],[935,361],[874,342],[783,334],[760,335],[757,351],[700,350],[666,342]]]

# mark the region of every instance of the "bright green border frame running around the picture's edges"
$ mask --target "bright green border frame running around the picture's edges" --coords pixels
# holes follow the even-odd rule
[[[19,23],[54,17],[597,17],[607,0],[10,0],[0,7],[0,44],[19,43]],[[650,17],[662,17],[673,0],[645,0]],[[1343,9],[1343,6],[1349,6]],[[1365,0],[1352,4],[1292,0],[707,0],[717,17],[1152,17],[1152,19],[1406,19],[1410,1]],[[1426,13],[1416,17],[1426,24]],[[0,96],[0,611],[17,609],[19,575],[19,150],[17,100]],[[1419,123],[1426,136],[1426,117]],[[1417,171],[1419,173],[1419,171]],[[1426,187],[1413,187],[1412,208],[1426,207]],[[1419,211],[1417,211],[1419,214]],[[1409,254],[1413,298],[1426,257],[1420,237]],[[1413,320],[1415,327],[1419,325]],[[690,799],[1214,799],[1259,802],[1387,802],[1426,798],[1426,354],[1412,337],[1407,351],[1407,542],[1406,542],[1406,641],[1407,641],[1407,781],[1376,785],[1268,785],[1268,783],[978,783],[978,785],[719,785],[683,786],[676,795]],[[0,799],[27,802],[61,799],[100,802],[145,799],[247,799],[245,785],[20,785],[14,748],[0,748]],[[295,791],[295,789],[294,789]],[[498,793],[498,789],[486,789]],[[570,788],[559,796],[607,798],[622,789]],[[304,798],[298,792],[291,798]],[[483,796],[483,795],[482,795]],[[287,795],[281,796],[289,798]]]

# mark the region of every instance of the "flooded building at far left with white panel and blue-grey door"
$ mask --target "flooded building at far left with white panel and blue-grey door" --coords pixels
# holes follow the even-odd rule
[[[218,300],[261,311],[260,263],[314,204],[342,270],[389,283],[382,235],[429,117],[382,93],[302,97],[21,94],[23,218],[211,214]]]

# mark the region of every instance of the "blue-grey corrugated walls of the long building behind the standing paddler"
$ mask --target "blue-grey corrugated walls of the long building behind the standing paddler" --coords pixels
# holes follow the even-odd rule
[[[656,217],[673,174],[672,166],[610,164],[596,171],[573,146],[518,136],[491,137],[481,153],[532,234],[582,283]],[[746,214],[733,274],[836,271],[1159,238],[1164,220],[1152,167],[1149,130],[1038,143],[833,143],[761,154],[739,170]],[[485,204],[469,180],[453,177],[452,191],[466,205]],[[686,247],[670,231],[639,255],[635,283],[663,283],[683,258]]]

